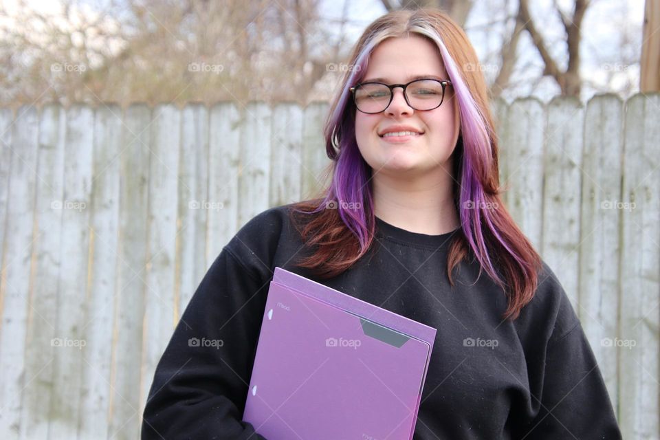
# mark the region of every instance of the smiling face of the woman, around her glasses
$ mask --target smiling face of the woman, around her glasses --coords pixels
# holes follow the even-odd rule
[[[438,48],[422,36],[386,39],[371,54],[362,83],[375,78],[388,85],[406,84],[423,76],[448,80]],[[374,173],[391,177],[405,173],[417,177],[429,173],[451,173],[448,159],[459,135],[458,115],[451,86],[445,89],[440,107],[419,111],[408,106],[403,89],[393,91],[391,104],[381,113],[355,111],[355,137],[360,153]],[[417,135],[382,136],[395,126],[407,127]]]

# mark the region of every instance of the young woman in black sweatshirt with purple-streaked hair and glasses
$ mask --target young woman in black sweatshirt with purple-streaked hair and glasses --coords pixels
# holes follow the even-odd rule
[[[325,129],[331,185],[223,248],[157,366],[144,439],[263,439],[241,415],[276,266],[437,329],[415,439],[621,438],[566,294],[500,199],[477,63],[436,10],[365,30]]]

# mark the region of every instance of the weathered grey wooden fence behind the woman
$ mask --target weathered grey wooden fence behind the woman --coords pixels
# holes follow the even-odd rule
[[[658,439],[660,96],[494,111],[507,206],[580,315],[624,438]],[[136,439],[215,256],[320,186],[326,113],[0,109],[0,437]]]

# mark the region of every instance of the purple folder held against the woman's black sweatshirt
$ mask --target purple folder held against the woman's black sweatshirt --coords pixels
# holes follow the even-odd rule
[[[276,267],[243,420],[267,440],[410,440],[435,333]]]

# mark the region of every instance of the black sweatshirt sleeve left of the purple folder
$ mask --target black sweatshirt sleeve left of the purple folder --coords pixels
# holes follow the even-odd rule
[[[143,440],[265,440],[242,415],[267,286],[225,246],[156,367]]]

